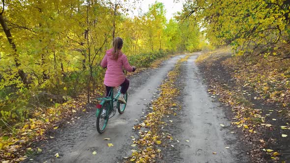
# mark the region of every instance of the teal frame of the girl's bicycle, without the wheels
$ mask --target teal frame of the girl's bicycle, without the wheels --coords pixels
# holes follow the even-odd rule
[[[107,109],[106,111],[106,120],[109,119],[109,113],[111,112],[111,110],[113,109],[114,107],[114,102],[117,101],[118,97],[120,96],[121,94],[121,86],[119,87],[119,90],[118,90],[118,93],[116,94],[116,96],[114,97],[114,87],[111,88],[110,92],[109,92],[109,96],[108,97],[103,97],[103,98],[96,98],[98,101],[100,100],[101,103],[100,104],[97,104],[97,111],[96,111],[96,117],[98,117],[101,113],[101,109],[102,109],[102,106],[110,101],[110,109]],[[108,117],[107,117],[108,116]]]

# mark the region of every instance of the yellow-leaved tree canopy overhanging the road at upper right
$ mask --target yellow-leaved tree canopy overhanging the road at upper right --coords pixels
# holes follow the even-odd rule
[[[194,18],[215,46],[231,45],[248,59],[290,58],[288,0],[193,0],[183,17]]]

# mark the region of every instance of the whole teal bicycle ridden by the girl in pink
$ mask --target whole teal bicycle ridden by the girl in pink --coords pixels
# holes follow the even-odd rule
[[[102,134],[105,131],[109,119],[112,118],[116,114],[116,109],[118,110],[120,114],[124,112],[126,108],[126,104],[119,103],[117,100],[120,94],[121,94],[121,87],[119,87],[119,90],[116,96],[114,97],[114,87],[112,87],[107,97],[96,98],[97,101],[101,101],[100,104],[97,104],[97,111],[96,111],[96,117],[97,117],[96,124],[97,124],[98,133]],[[124,99],[127,102],[127,99],[128,99],[127,92],[124,94]],[[115,102],[116,102],[116,105],[114,106]]]

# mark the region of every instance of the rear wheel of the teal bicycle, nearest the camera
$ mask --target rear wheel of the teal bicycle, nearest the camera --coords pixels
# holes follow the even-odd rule
[[[106,113],[103,113],[103,109],[106,110]],[[106,126],[109,120],[109,116],[107,116],[108,110],[110,110],[110,102],[105,102],[101,108],[101,111],[97,117],[97,122],[96,122],[97,131],[100,134],[102,134],[106,129]]]

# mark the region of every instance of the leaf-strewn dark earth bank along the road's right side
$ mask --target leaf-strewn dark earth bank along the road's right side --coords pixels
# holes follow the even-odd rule
[[[234,113],[232,125],[251,146],[255,163],[289,160],[290,63],[289,60],[246,65],[229,48],[202,54],[197,63],[213,99]]]

